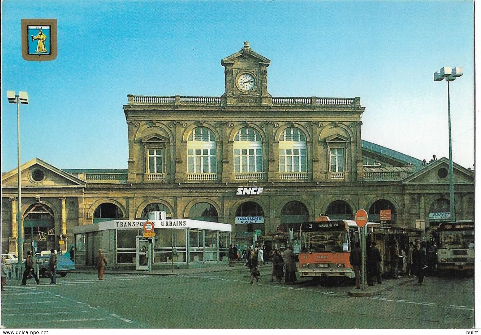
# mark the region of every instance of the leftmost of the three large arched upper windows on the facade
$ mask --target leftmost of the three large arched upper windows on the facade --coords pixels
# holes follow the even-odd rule
[[[187,170],[195,174],[217,172],[215,135],[206,127],[197,127],[189,135]]]

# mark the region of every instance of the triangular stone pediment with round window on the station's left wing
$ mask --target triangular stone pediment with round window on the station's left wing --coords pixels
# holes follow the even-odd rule
[[[44,162],[39,158],[34,158],[20,167],[22,177],[22,187],[64,187],[78,186],[85,187],[86,182],[62,169]],[[1,176],[2,187],[18,187],[17,168]]]

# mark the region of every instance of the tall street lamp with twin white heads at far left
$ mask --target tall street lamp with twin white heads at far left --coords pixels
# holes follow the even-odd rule
[[[22,178],[20,174],[20,103],[28,104],[27,92],[7,91],[7,99],[9,103],[17,104],[17,143],[18,143],[18,207],[17,207],[17,253],[18,261],[21,262],[23,258],[24,248],[24,230],[22,225]]]

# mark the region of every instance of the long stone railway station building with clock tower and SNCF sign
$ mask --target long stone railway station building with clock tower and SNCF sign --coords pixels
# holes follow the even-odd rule
[[[127,169],[22,165],[25,248],[67,249],[74,227],[151,211],[230,224],[240,249],[254,235],[267,241],[361,208],[374,222],[390,210],[388,228],[428,238],[450,219],[448,159],[421,161],[362,140],[359,97],[271,96],[269,64],[245,42],[221,60],[220,97],[128,95]],[[454,180],[456,219],[474,219],[474,171],[455,163]],[[2,253],[16,252],[16,194],[14,169],[2,174]]]

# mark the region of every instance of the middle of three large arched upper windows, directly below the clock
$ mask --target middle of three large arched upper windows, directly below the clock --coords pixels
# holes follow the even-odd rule
[[[234,138],[234,172],[263,172],[262,138],[252,127],[240,129]]]

